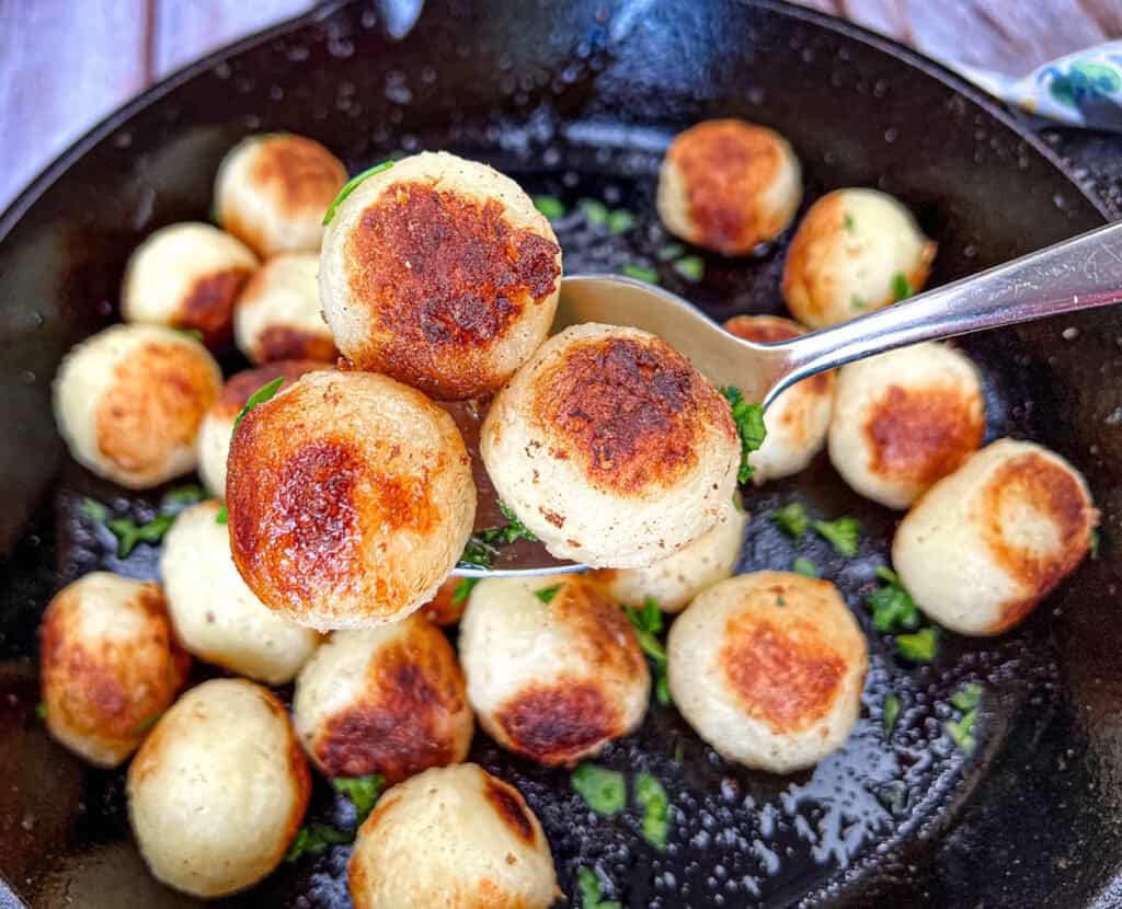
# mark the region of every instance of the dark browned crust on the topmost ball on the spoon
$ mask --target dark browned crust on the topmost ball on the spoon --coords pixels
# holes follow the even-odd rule
[[[494,384],[485,354],[527,306],[553,294],[559,252],[552,240],[513,228],[496,200],[480,205],[435,183],[394,184],[348,241],[351,296],[375,334],[351,359],[438,397]]]

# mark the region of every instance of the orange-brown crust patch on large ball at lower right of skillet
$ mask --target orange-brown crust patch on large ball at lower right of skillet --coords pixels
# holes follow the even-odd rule
[[[782,629],[736,615],[718,657],[744,712],[776,735],[802,732],[829,713],[845,660],[806,623]]]

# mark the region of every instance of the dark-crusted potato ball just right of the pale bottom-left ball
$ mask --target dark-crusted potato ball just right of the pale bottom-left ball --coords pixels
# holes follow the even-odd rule
[[[334,632],[296,679],[293,722],[325,776],[389,783],[459,763],[475,729],[456,651],[417,613]]]

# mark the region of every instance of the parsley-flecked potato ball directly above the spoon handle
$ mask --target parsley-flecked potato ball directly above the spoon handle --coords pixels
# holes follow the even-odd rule
[[[783,263],[783,297],[799,322],[825,328],[919,293],[935,259],[898,200],[835,189],[807,212]]]

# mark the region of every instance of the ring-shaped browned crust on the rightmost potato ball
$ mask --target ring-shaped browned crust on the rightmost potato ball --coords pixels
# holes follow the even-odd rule
[[[1017,502],[1046,517],[1056,530],[1055,553],[1015,546],[1005,537],[1002,514],[1006,502]],[[978,513],[982,538],[997,564],[1023,593],[1001,606],[1000,620],[987,631],[999,633],[1028,615],[1075,571],[1091,547],[1091,530],[1098,522],[1083,485],[1064,466],[1038,452],[1015,455],[990,477]]]

